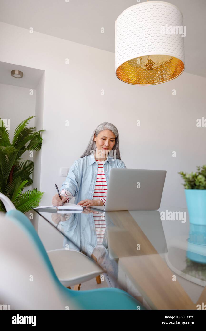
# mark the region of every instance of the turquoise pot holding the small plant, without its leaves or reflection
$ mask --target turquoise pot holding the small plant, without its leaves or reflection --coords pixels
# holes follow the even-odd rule
[[[206,190],[186,190],[185,196],[191,224],[206,225]]]

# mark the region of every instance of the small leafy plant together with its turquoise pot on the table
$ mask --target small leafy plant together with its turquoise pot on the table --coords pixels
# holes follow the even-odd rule
[[[197,166],[196,172],[178,172],[185,183],[185,196],[192,224],[206,225],[206,165]]]

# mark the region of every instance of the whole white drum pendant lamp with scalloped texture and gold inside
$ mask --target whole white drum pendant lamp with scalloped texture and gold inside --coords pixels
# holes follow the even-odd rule
[[[185,68],[183,15],[163,1],[138,3],[115,22],[115,70],[121,81],[153,85]]]

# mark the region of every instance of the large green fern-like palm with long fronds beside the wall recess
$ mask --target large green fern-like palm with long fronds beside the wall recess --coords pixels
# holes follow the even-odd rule
[[[36,127],[27,127],[30,119],[34,117],[26,118],[17,126],[12,143],[4,121],[0,118],[0,192],[6,195],[22,213],[37,207],[44,194],[37,188],[22,193],[24,187],[33,183],[30,176],[34,171],[34,162],[31,160],[21,162],[21,155],[26,151],[40,151],[42,146],[40,132],[45,131],[36,131]],[[1,200],[0,211],[6,212]]]

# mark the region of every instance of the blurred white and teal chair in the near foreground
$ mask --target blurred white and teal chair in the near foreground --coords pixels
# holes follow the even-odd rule
[[[116,288],[74,291],[59,281],[30,220],[0,214],[0,304],[11,309],[145,309]]]

